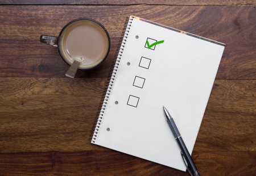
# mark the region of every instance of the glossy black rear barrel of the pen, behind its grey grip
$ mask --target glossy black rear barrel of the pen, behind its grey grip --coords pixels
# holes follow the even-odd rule
[[[197,173],[196,165],[194,164],[182,137],[179,137],[176,140],[180,146],[181,152],[183,152],[183,156],[185,161],[187,162],[188,169],[191,170],[192,175],[199,175]]]

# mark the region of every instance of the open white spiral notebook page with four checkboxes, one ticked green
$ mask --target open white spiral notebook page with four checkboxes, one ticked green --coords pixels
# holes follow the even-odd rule
[[[224,48],[130,16],[92,143],[185,171],[163,105],[191,154]]]

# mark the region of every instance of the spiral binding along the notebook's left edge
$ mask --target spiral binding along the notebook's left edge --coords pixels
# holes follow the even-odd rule
[[[119,40],[119,42],[120,42],[119,48],[118,48],[118,51],[115,53],[114,61],[111,66],[112,69],[110,69],[110,72],[109,72],[109,78],[108,78],[108,82],[106,83],[106,89],[105,89],[106,94],[101,99],[102,103],[100,104],[100,107],[98,109],[98,114],[96,117],[96,121],[94,122],[94,125],[93,125],[92,136],[91,136],[92,143],[95,143],[97,135],[98,135],[98,130],[99,130],[98,128],[100,128],[100,125],[102,123],[104,112],[105,112],[106,106],[108,104],[108,99],[109,99],[110,93],[112,91],[112,86],[114,84],[115,75],[117,74],[119,62],[122,57],[123,48],[125,48],[127,36],[129,35],[129,32],[130,32],[131,23],[133,23],[133,17],[132,18],[127,17],[124,28],[123,28],[122,36]]]

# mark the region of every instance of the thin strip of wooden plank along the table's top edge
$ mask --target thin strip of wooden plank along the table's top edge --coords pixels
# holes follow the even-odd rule
[[[2,0],[0,5],[185,5],[185,6],[232,6],[232,5],[246,5],[253,6],[256,4],[255,0],[216,0],[216,1],[205,1],[205,0],[133,0],[133,1],[121,1],[121,0]]]

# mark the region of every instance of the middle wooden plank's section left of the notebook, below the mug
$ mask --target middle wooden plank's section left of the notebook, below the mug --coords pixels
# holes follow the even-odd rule
[[[105,83],[106,78],[0,78],[0,152],[92,149]]]

